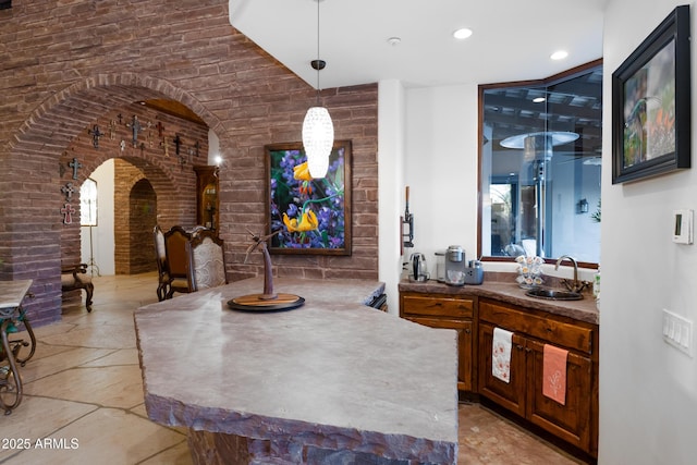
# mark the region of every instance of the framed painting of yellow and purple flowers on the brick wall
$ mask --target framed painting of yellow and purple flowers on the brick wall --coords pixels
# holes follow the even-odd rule
[[[351,255],[351,140],[335,140],[329,170],[309,176],[302,143],[265,146],[271,254]]]

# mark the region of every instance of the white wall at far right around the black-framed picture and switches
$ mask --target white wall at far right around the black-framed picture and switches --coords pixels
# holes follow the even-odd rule
[[[681,3],[610,1],[603,45],[603,154],[612,147],[612,72]],[[695,24],[697,11],[689,4]],[[692,47],[694,94],[694,40]],[[693,115],[693,154],[696,124]],[[697,210],[697,167],[612,185],[607,156],[602,178],[599,462],[694,464],[697,362],[663,342],[661,309],[697,321],[697,245],[671,242],[672,210]]]

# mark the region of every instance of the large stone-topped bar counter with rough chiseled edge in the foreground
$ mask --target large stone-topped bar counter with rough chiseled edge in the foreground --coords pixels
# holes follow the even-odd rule
[[[228,307],[262,285],[135,314],[148,416],[187,428],[195,463],[456,463],[455,331],[367,307],[376,281],[278,279],[305,305]]]

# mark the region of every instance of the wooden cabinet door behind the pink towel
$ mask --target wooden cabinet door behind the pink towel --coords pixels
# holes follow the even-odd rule
[[[566,362],[566,399],[562,405],[542,394],[545,345],[527,341],[528,399],[526,417],[566,442],[590,450],[592,363],[570,352]]]

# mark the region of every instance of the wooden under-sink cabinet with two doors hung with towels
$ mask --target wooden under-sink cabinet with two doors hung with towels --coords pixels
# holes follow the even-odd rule
[[[597,456],[597,326],[484,298],[478,313],[479,394]],[[513,332],[509,383],[491,374],[496,327]],[[568,351],[564,405],[542,394],[546,343]]]

